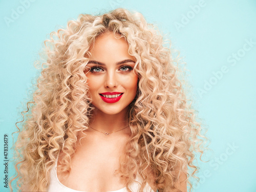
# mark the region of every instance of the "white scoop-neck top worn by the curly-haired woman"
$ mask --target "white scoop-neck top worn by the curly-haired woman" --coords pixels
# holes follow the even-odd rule
[[[142,178],[137,175],[136,177],[136,181],[140,182],[140,184],[142,183]],[[139,184],[134,182],[131,185],[131,189],[133,192],[137,192],[139,191]],[[75,190],[69,187],[66,187],[65,185],[63,185],[62,183],[60,183],[60,181],[58,180],[57,177],[57,160],[53,166],[53,168],[50,170],[50,185],[48,188],[48,192],[87,192],[87,191],[81,191],[81,190]],[[148,185],[148,183],[146,183],[146,186],[143,190],[144,192],[154,192],[154,190],[150,187],[150,185]],[[127,192],[126,188],[121,188],[119,190],[115,190],[115,191],[108,191],[108,192]]]

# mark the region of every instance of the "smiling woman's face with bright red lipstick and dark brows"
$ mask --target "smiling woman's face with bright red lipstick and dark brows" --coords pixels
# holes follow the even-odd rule
[[[95,108],[105,114],[127,110],[136,96],[135,58],[128,49],[123,37],[116,39],[113,33],[107,32],[97,37],[90,50],[92,56],[85,71],[89,93]],[[106,98],[113,96],[116,98]]]

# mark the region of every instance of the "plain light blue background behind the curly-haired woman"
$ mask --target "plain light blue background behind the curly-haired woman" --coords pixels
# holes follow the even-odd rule
[[[11,133],[16,131],[21,103],[36,74],[33,62],[42,42],[79,13],[118,7],[141,12],[147,22],[168,33],[174,48],[184,57],[186,69],[191,71],[187,74],[194,87],[194,106],[208,126],[209,147],[214,152],[209,155],[210,162],[200,163],[201,181],[195,191],[256,191],[256,1],[38,0],[24,10],[22,2],[0,2],[1,191],[9,191],[3,186],[4,133],[9,134],[11,146]],[[196,11],[199,4],[200,10]],[[6,19],[12,19],[13,10],[20,14],[8,24]],[[187,23],[185,16],[189,17]],[[183,26],[178,28],[178,23]],[[254,44],[249,47],[247,41]],[[232,54],[239,55],[233,66],[228,61]],[[226,73],[217,79],[214,73],[225,66]],[[212,84],[209,89],[205,88],[207,82]],[[205,91],[201,96],[199,89]],[[10,170],[13,173],[12,165]]]

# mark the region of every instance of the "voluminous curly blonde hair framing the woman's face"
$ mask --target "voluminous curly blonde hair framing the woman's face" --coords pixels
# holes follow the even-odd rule
[[[89,128],[94,110],[84,69],[91,45],[106,31],[126,39],[129,53],[136,58],[134,70],[139,79],[129,109],[132,135],[118,169],[127,178],[126,189],[131,191],[129,186],[139,172],[142,191],[150,179],[144,172],[147,167],[153,171],[158,191],[180,191],[176,184],[182,173],[186,181],[191,176],[198,178],[195,152],[201,154],[201,160],[207,138],[201,133],[202,123],[196,120],[197,111],[186,98],[179,57],[173,57],[170,40],[164,40],[141,13],[118,8],[101,15],[80,14],[68,22],[67,29],[52,32],[45,41],[47,60],[41,64],[27,111],[22,112],[23,121],[17,122],[22,129],[16,123],[16,174],[11,191],[14,180],[18,190],[21,184],[28,184],[33,191],[46,191],[59,152],[64,154],[62,170],[70,170],[77,141]]]

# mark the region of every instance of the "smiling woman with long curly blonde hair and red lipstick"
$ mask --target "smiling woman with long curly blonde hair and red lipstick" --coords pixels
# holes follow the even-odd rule
[[[191,190],[187,166],[195,177],[204,136],[162,39],[121,8],[52,33],[11,182],[22,191]]]

